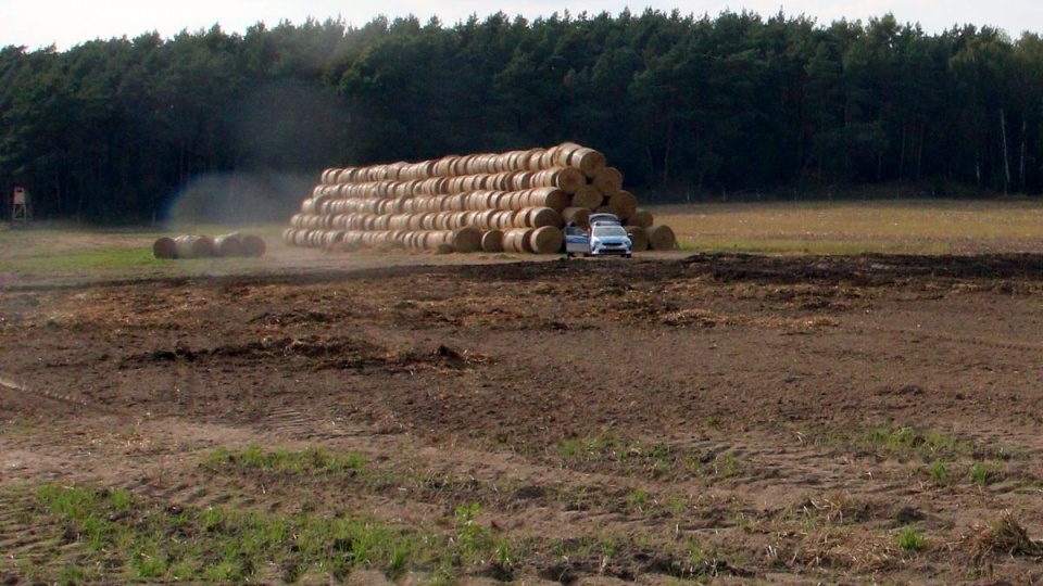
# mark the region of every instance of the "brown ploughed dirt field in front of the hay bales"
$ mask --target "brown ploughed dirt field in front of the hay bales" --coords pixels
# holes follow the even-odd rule
[[[0,579],[99,559],[47,483],[481,535],[468,583],[1043,579],[1043,256],[322,258],[9,279]],[[366,468],[206,463],[248,446]]]

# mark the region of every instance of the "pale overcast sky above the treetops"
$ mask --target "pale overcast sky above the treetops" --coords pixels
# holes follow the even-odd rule
[[[319,21],[342,17],[362,26],[378,15],[388,18],[415,15],[422,22],[438,16],[451,26],[470,14],[483,18],[502,10],[510,16],[550,16],[567,9],[574,15],[608,12],[618,15],[625,8],[641,13],[645,8],[663,12],[677,9],[683,15],[717,16],[721,11],[743,9],[762,16],[781,9],[787,15],[804,14],[820,25],[840,18],[868,21],[891,12],[900,23],[919,23],[929,34],[955,24],[989,25],[1006,30],[1013,38],[1025,30],[1043,33],[1041,0],[519,0],[495,3],[488,0],[0,0],[0,47],[26,46],[29,50],[54,43],[59,50],[113,37],[134,38],[155,30],[165,38],[221,24],[228,33],[243,33],[252,24],[293,24],[309,16]]]

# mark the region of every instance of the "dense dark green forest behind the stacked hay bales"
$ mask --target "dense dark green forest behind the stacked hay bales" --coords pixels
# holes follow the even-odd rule
[[[37,217],[154,220],[206,186],[204,200],[274,219],[325,167],[566,140],[603,151],[645,201],[1040,194],[1043,42],[892,15],[646,11],[0,49],[0,189],[25,186]]]

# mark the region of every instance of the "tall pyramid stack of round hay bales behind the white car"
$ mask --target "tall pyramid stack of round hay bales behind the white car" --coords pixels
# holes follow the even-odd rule
[[[574,142],[326,169],[282,240],[324,250],[553,254],[568,221],[585,226],[598,212],[619,216],[634,252],[676,246],[674,231],[638,207],[604,154]]]

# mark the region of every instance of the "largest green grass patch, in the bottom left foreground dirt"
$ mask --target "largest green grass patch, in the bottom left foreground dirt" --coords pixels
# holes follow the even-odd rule
[[[262,572],[271,568],[280,569],[276,579],[290,583],[314,571],[339,581],[355,568],[394,578],[454,553],[449,546],[433,547],[439,542],[423,531],[370,519],[222,507],[181,510],[84,486],[38,488],[30,513],[32,524],[50,527],[77,560],[75,566],[39,568],[38,577],[68,584],[242,583],[269,579]]]

